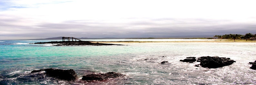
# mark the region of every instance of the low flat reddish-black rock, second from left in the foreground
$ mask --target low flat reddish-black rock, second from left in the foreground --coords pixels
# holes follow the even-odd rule
[[[116,78],[116,77],[121,77],[124,76],[121,73],[116,73],[116,72],[107,72],[103,74],[88,74],[84,75],[82,80],[96,80],[96,81],[101,81],[101,80],[107,80],[109,78]]]

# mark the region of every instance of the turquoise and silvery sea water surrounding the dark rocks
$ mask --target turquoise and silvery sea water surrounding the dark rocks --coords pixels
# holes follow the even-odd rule
[[[89,41],[201,41],[202,39],[95,39]],[[0,40],[0,85],[234,85],[256,84],[255,43],[162,42],[118,43],[124,46],[52,46],[29,44],[61,40]],[[115,43],[114,43],[115,44]],[[164,56],[164,57],[162,57]],[[166,56],[166,57],[165,57]],[[186,57],[228,57],[222,68],[195,67]],[[160,64],[168,61],[166,64]],[[39,69],[74,69],[77,81],[30,73]],[[118,72],[123,77],[83,81],[83,75]]]

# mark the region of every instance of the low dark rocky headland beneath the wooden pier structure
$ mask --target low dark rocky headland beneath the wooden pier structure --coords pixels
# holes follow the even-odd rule
[[[110,45],[120,45],[120,44],[105,44],[105,43],[92,43],[91,41],[51,41],[51,42],[37,42],[34,44],[56,44],[54,46],[110,46]]]

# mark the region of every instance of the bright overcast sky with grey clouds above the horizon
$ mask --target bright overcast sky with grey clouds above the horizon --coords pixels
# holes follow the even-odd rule
[[[256,0],[1,0],[0,40],[256,34]]]

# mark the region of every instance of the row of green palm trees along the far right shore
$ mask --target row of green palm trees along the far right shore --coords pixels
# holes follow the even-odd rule
[[[235,41],[235,39],[246,39],[246,41],[249,38],[254,38],[256,37],[256,34],[252,34],[252,33],[246,33],[245,35],[240,35],[240,34],[225,34],[225,35],[215,35],[214,37],[218,37],[218,38],[224,38],[224,39],[233,39]]]

